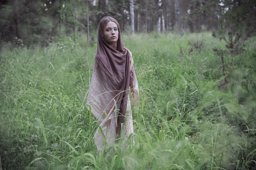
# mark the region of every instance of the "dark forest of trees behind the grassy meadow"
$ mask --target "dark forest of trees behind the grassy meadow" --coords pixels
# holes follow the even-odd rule
[[[256,25],[253,0],[1,0],[0,40],[14,43],[17,37],[24,45],[47,46],[86,33],[87,42],[96,43],[106,15],[119,21],[124,33],[222,33],[228,28],[250,37]]]

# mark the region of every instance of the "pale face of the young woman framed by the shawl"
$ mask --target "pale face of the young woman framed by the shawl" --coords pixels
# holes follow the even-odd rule
[[[118,28],[116,23],[109,21],[105,26],[104,34],[108,43],[110,45],[114,44],[118,40]]]

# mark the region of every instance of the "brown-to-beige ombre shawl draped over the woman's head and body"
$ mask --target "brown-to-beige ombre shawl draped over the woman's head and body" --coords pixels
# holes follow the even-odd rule
[[[134,68],[130,72],[130,56],[128,51],[123,49],[125,45],[119,27],[118,32],[117,45],[114,49],[108,45],[104,30],[99,25],[98,47],[87,99],[87,104],[91,105],[91,112],[99,123],[115,112],[117,134],[120,132],[126,112],[130,75],[135,74]]]

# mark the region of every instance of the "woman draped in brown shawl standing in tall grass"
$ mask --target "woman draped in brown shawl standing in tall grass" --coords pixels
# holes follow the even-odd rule
[[[119,136],[133,133],[129,92],[137,105],[139,91],[131,52],[121,40],[117,21],[106,16],[99,22],[97,53],[87,99],[87,108],[100,124],[94,135],[98,151],[110,147]]]

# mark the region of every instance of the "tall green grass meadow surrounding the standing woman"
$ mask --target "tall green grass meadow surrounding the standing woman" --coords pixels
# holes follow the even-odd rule
[[[188,54],[194,40],[203,47]],[[255,37],[224,55],[223,85],[212,48],[226,43],[211,33],[123,35],[140,88],[134,144],[100,157],[85,108],[97,47],[85,41],[0,51],[0,170],[256,168]]]

